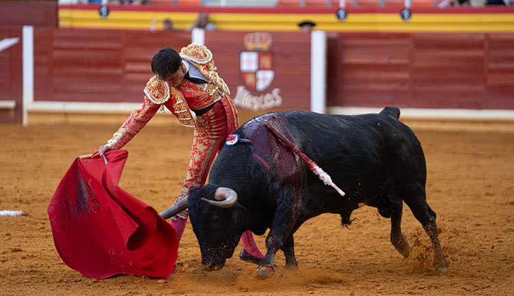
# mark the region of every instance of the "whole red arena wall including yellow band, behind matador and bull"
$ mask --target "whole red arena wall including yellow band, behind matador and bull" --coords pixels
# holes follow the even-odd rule
[[[151,18],[160,25],[160,19],[171,13],[178,16],[171,17],[174,21],[187,16],[182,19],[184,25],[184,20],[192,22],[199,8],[119,6],[112,8],[108,18],[101,19],[98,7],[61,5],[59,28],[51,22],[34,28],[34,53],[27,53],[34,58],[33,74],[23,78],[23,82],[30,82],[33,75],[32,86],[23,83],[23,87],[16,88],[16,82],[11,83],[10,79],[20,74],[16,70],[9,74],[5,71],[14,69],[13,58],[21,59],[20,45],[10,49],[16,53],[0,52],[6,77],[2,80],[2,94],[8,97],[0,101],[3,119],[8,118],[4,114],[11,114],[8,121],[12,120],[16,114],[14,106],[22,105],[14,102],[20,95],[9,93],[7,85],[18,91],[25,88],[23,97],[29,98],[25,106],[31,112],[129,112],[142,99],[142,88],[152,75],[149,62],[157,49],[178,49],[199,40],[195,41],[194,34],[186,30],[150,32],[137,25]],[[332,113],[375,112],[373,108],[395,105],[407,110],[403,114],[411,112],[414,117],[514,119],[511,8],[462,8],[458,13],[437,10],[437,14],[435,10],[420,8],[413,11],[419,12],[419,18],[408,22],[399,21],[397,11],[387,9],[349,8],[355,18],[345,22],[334,21],[334,11],[321,8],[309,9],[309,14],[302,14],[306,10],[298,8],[206,10],[218,15],[221,23],[217,25],[221,27],[215,32],[201,31],[200,43],[205,42],[215,52],[220,74],[231,87],[232,97],[269,103],[276,97],[272,90],[280,89],[280,107],[250,107],[251,111],[313,110],[316,102],[322,102],[317,112],[324,112],[326,106]],[[319,31],[312,36],[298,32],[299,19],[317,17],[318,13],[323,16],[318,27],[332,28],[328,35]],[[126,24],[127,17],[134,27],[115,29]],[[241,22],[247,26],[225,30]],[[260,29],[253,30],[252,26]],[[86,27],[98,29],[79,29]],[[250,50],[245,45],[248,34],[271,36],[273,45],[259,51],[269,51],[272,56],[269,70],[273,72],[273,83],[266,90],[254,89],[238,95],[241,87],[252,88],[245,85],[247,81],[241,71],[242,53]],[[322,37],[322,47],[311,42],[315,40],[314,34]],[[31,64],[27,65],[30,69]],[[313,72],[314,69],[319,72]],[[23,75],[25,72],[29,71],[23,71]]]

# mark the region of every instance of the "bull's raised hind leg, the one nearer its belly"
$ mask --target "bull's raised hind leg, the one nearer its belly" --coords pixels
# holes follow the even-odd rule
[[[393,193],[388,193],[387,198],[391,201],[391,243],[397,251],[405,258],[411,254],[411,246],[402,233],[402,209],[403,201]]]

